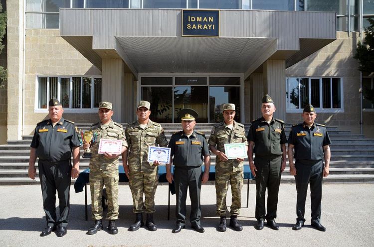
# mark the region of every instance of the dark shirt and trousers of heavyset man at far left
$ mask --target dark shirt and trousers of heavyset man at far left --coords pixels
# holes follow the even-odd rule
[[[71,181],[70,158],[72,148],[80,146],[77,129],[73,122],[63,118],[54,127],[50,120],[44,120],[36,125],[30,146],[36,148],[36,156],[39,158],[39,178],[47,226],[66,227]],[[58,220],[56,190],[60,209]]]

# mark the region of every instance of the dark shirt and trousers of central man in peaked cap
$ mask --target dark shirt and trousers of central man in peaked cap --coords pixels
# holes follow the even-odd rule
[[[186,225],[187,188],[191,199],[189,221],[192,226],[200,225],[200,189],[201,164],[204,156],[210,155],[205,135],[194,131],[187,137],[183,131],[175,132],[169,142],[173,158],[174,181],[176,186],[176,217],[177,225]]]

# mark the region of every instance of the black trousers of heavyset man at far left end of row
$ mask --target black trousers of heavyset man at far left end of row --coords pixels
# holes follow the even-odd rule
[[[66,227],[69,215],[69,196],[71,181],[70,160],[60,162],[38,161],[39,179],[43,196],[43,209],[47,226]],[[56,216],[56,191],[60,215]]]

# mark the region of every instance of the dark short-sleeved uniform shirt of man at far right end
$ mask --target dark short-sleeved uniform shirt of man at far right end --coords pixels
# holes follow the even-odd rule
[[[291,128],[288,143],[295,147],[295,159],[321,160],[324,157],[323,146],[330,145],[331,140],[323,124],[295,124]]]

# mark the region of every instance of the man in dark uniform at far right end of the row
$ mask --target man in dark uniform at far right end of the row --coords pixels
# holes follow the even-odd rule
[[[322,180],[329,175],[331,140],[323,124],[315,123],[316,111],[307,105],[302,114],[304,123],[292,126],[288,138],[288,159],[290,173],[295,176],[297,203],[296,224],[293,230],[300,230],[304,225],[305,199],[310,183],[312,201],[312,227],[325,232],[321,225]],[[293,158],[295,149],[295,165]],[[325,165],[323,163],[325,159]]]

